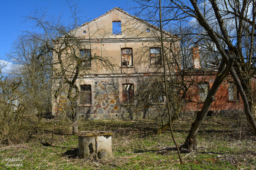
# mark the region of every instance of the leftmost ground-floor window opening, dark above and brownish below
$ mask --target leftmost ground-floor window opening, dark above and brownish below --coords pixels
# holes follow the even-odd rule
[[[92,103],[92,86],[85,84],[80,85],[80,104],[91,104]]]

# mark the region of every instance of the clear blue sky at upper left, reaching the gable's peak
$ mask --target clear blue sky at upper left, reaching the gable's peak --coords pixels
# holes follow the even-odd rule
[[[83,13],[84,22],[91,21],[94,18],[106,13],[115,7],[120,7],[130,14],[133,11],[128,10],[128,0],[80,0],[78,2],[79,10]],[[29,16],[36,9],[47,10],[50,16],[59,16],[62,19],[70,17],[70,10],[65,6],[65,0],[2,0],[0,3],[0,60],[8,60],[5,53],[10,52],[12,43],[16,40],[22,31],[31,29],[28,22],[23,22],[23,16]],[[126,6],[128,5],[128,6]]]

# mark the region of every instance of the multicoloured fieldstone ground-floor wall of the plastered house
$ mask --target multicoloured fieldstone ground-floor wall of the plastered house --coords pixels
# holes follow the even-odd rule
[[[122,106],[122,84],[133,83],[134,91],[137,90],[139,78],[101,78],[92,80],[92,106],[80,106],[79,119],[155,119],[159,116],[156,106],[151,106],[146,112],[131,112]]]

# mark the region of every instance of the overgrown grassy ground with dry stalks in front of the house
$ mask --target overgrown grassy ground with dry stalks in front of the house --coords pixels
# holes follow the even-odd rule
[[[193,122],[184,117],[173,124],[179,145],[183,144]],[[1,146],[0,169],[256,169],[256,137],[241,116],[211,116],[204,120],[197,135],[197,151],[181,150],[179,163],[170,131],[154,134],[150,120],[81,121],[79,130],[108,130],[113,132],[113,158],[78,158],[78,137],[70,135],[70,123],[59,121],[51,142],[53,120],[45,119],[34,127],[29,140],[22,144]],[[27,134],[28,135],[28,134]],[[8,162],[8,158],[22,159]],[[19,167],[6,164],[18,163]]]

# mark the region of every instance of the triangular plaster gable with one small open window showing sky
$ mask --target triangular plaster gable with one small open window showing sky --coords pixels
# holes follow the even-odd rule
[[[112,34],[112,22],[122,20],[122,35]],[[160,29],[143,19],[130,15],[120,8],[113,8],[105,14],[86,22],[76,29],[79,37],[83,38],[135,38],[135,37],[155,37],[159,35]],[[147,32],[150,30],[151,32]],[[169,32],[163,30],[168,37],[177,38]],[[91,33],[91,34],[89,34]]]

